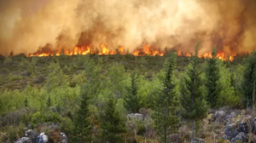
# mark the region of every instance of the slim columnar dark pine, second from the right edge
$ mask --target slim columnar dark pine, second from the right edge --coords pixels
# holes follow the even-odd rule
[[[207,60],[207,102],[212,108],[218,108],[218,99],[221,93],[221,83],[219,82],[220,73],[218,59],[216,57],[217,49],[212,50],[212,58]]]

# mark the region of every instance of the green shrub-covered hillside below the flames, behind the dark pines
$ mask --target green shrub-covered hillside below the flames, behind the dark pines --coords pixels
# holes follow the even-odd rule
[[[155,113],[160,112],[160,106],[164,105],[162,100],[157,99],[160,98],[163,87],[165,87],[166,83],[163,81],[166,80],[167,65],[171,64],[170,66],[172,66],[170,63],[172,57],[171,54],[164,56],[88,54],[47,57],[26,57],[24,54],[19,54],[1,58],[0,140],[14,142],[23,137],[25,131],[29,131],[27,129],[32,129],[32,133],[36,136],[45,132],[49,142],[66,140],[58,135],[62,134],[61,132],[67,134],[68,142],[76,142],[79,134],[84,134],[83,137],[80,137],[87,140],[84,138],[88,135],[87,132],[79,131],[79,125],[83,124],[77,120],[77,117],[81,116],[79,112],[84,112],[82,117],[87,115],[90,128],[92,128],[89,131],[90,140],[94,142],[110,140],[110,134],[110,136],[103,134],[104,129],[112,128],[104,125],[105,122],[108,122],[108,116],[116,118],[113,120],[120,122],[115,126],[119,127],[120,133],[125,134],[125,140],[128,142],[162,140],[160,134],[162,132],[156,127],[156,121],[160,121],[160,123],[165,123],[165,121],[155,118],[157,115]],[[221,83],[222,86],[218,97],[221,99],[218,101],[218,107],[224,107],[221,108],[224,114],[219,116],[218,112],[216,114],[209,108],[208,110],[211,112],[203,119],[198,120],[202,124],[197,124],[196,128],[204,130],[196,129],[196,132],[199,132],[196,134],[197,137],[212,142],[211,134],[219,134],[220,130],[224,129],[221,127],[225,124],[224,115],[230,116],[230,110],[236,112],[236,116],[232,119],[234,122],[240,119],[241,115],[247,115],[245,112],[240,110],[237,112],[235,109],[241,109],[243,104],[241,102],[243,99],[241,87],[244,70],[247,67],[247,62],[244,59],[249,59],[249,57],[251,55],[237,55],[233,61],[216,60],[220,69],[218,83]],[[175,56],[174,59],[177,60],[177,67],[173,68],[173,72],[170,74],[174,76],[171,83],[175,83],[176,88],[172,89],[172,92],[177,94],[178,99],[182,99],[183,79],[188,74],[188,69],[191,66],[189,63],[193,61],[193,57]],[[173,62],[176,63],[174,60]],[[206,88],[204,85],[207,85],[208,62],[208,59],[203,58],[198,58],[196,62],[198,68],[195,69],[201,71],[200,78],[203,88]],[[137,76],[133,77],[134,73]],[[132,83],[133,80],[136,82]],[[207,89],[205,91],[203,93],[207,93]],[[125,104],[129,94],[134,93],[138,96],[137,100],[128,105]],[[84,97],[88,97],[89,100],[84,102]],[[115,104],[112,104],[110,100],[113,100]],[[167,103],[170,102],[172,100]],[[87,107],[82,108],[85,103],[88,104]],[[210,102],[207,103],[209,106],[210,104]],[[109,108],[111,105],[112,107]],[[137,109],[131,112],[129,106],[137,106]],[[110,109],[117,113],[114,115],[103,113]],[[182,108],[179,106],[177,109]],[[133,117],[139,122],[131,119]],[[218,117],[220,119],[216,120]],[[207,125],[204,124],[208,119],[210,122]],[[168,136],[171,135],[172,140],[177,138],[178,142],[187,142],[186,140],[190,140],[191,122],[184,120],[183,117],[182,120],[177,121],[177,128],[169,130]],[[124,127],[121,127],[122,123]],[[122,130],[123,128],[125,130]],[[187,129],[185,133],[184,129]],[[210,129],[213,130],[210,131]],[[114,136],[119,134],[118,131],[114,133]],[[118,139],[118,136],[114,138],[116,138],[114,140],[123,140],[123,138]],[[221,137],[219,137],[220,139]]]

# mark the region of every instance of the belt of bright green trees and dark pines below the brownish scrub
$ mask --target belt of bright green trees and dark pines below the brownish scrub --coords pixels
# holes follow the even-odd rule
[[[122,63],[108,63],[102,57],[96,62],[90,55],[73,59],[81,71],[70,76],[72,66],[61,68],[55,58],[45,69],[48,76],[36,78],[36,83],[45,79],[41,86],[28,83],[25,89],[1,90],[1,133],[14,141],[26,127],[50,132],[50,140],[58,142],[52,135],[55,129],[40,128],[58,123],[69,142],[170,142],[170,134],[191,123],[189,138],[194,138],[210,109],[253,108],[255,103],[255,52],[227,68],[216,58],[216,49],[212,59],[202,62],[199,48],[197,44],[183,71],[177,70],[177,54],[171,53],[150,78],[140,69],[126,70]],[[20,66],[33,76],[37,59],[26,62]],[[130,113],[147,114],[147,123],[137,121],[132,128],[126,118]]]

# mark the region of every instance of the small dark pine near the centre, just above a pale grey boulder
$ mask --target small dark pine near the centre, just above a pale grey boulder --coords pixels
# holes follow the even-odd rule
[[[137,94],[137,74],[131,73],[131,87],[127,87],[127,95],[125,96],[124,106],[128,112],[137,113],[141,107],[143,107],[142,96]]]

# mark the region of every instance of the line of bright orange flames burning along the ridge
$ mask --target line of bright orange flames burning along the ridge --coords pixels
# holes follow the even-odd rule
[[[101,43],[101,50],[99,51],[98,49],[93,50],[92,46],[82,46],[82,47],[75,47],[73,50],[68,50],[68,49],[59,49],[59,50],[42,50],[42,51],[38,51],[34,54],[28,54],[27,56],[32,57],[32,56],[38,56],[38,57],[43,57],[43,56],[52,56],[52,55],[56,55],[59,56],[61,54],[66,54],[66,55],[77,55],[77,54],[126,54],[125,53],[125,48],[123,46],[119,46],[118,49],[116,50],[110,50],[108,49],[107,45],[105,45],[104,43]],[[165,54],[164,51],[158,50],[158,49],[153,49],[152,47],[149,46],[149,44],[144,44],[143,49],[136,49],[134,50],[132,53],[132,55],[134,56],[144,56],[144,55],[149,55],[149,56],[163,56]],[[187,56],[187,57],[191,57],[191,54],[183,54],[181,50],[177,51],[177,56]],[[236,54],[230,55],[229,57],[226,57],[224,55],[223,51],[218,51],[216,57],[219,60],[230,60],[233,61],[234,57],[236,56]],[[205,54],[198,54],[199,58],[212,58],[212,53],[211,52],[207,52]]]

